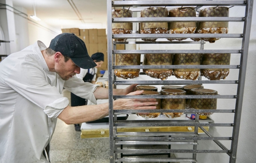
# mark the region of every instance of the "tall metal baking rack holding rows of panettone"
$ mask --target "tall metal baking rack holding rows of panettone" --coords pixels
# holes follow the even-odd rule
[[[165,17],[165,18],[112,18],[111,10],[112,7],[126,7],[133,10],[133,7],[137,6],[244,6],[245,7],[245,17]],[[236,152],[238,146],[238,135],[241,119],[241,109],[242,100],[244,94],[245,85],[245,72],[247,64],[247,54],[249,47],[249,37],[252,19],[252,6],[253,0],[163,0],[163,1],[111,1],[107,0],[107,40],[108,40],[108,72],[109,72],[109,125],[110,125],[110,163],[114,162],[197,162],[197,153],[226,153],[229,156],[229,163],[236,162]],[[197,9],[199,9],[197,7]],[[133,11],[139,11],[134,9]],[[112,33],[112,23],[118,22],[190,22],[190,21],[229,21],[229,22],[243,22],[244,29],[243,33],[238,34],[111,34]],[[241,38],[242,44],[241,49],[214,49],[214,50],[204,50],[204,42],[143,42],[143,41],[132,41],[132,42],[113,42],[113,38]],[[116,44],[200,44],[199,50],[116,50]],[[113,49],[113,50],[112,50]],[[113,65],[114,54],[162,54],[162,53],[231,53],[241,54],[239,65],[159,65],[159,66],[115,66]],[[239,69],[238,80],[166,80],[166,81],[118,81],[116,76],[113,75],[114,69],[182,69],[182,68],[228,68],[228,69]],[[145,85],[165,85],[165,84],[234,84],[237,85],[237,93],[234,95],[180,95],[180,96],[155,96],[155,98],[231,98],[236,100],[234,109],[218,108],[217,110],[113,110],[113,100],[121,98],[138,98],[136,96],[113,96],[113,88],[116,85],[130,85],[130,84],[145,84]],[[114,86],[113,86],[114,85]],[[151,98],[151,96],[142,96],[140,98]],[[167,113],[167,112],[183,112],[183,113],[230,113],[234,114],[233,123],[200,123],[196,116],[195,120],[117,120],[117,114],[135,114],[135,113]],[[142,127],[142,126],[194,126],[194,132],[122,132],[118,133],[118,127]],[[231,137],[214,137],[204,126],[226,126],[233,127],[233,132]],[[197,137],[198,127],[205,132],[208,137]],[[198,140],[211,140],[215,142],[221,150],[197,150]],[[225,147],[219,140],[231,141],[231,148]],[[118,145],[169,145],[169,149],[118,149]],[[174,150],[171,149],[171,145],[178,144],[182,145],[193,145],[193,150]],[[135,158],[135,157],[118,157],[119,154],[129,153],[132,154],[142,153],[158,153],[158,154],[170,154],[170,153],[191,153],[189,158]]]

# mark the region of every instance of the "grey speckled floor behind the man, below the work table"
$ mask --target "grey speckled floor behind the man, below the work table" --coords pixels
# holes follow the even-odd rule
[[[70,98],[70,92],[64,89],[63,96]],[[74,125],[58,119],[51,141],[51,163],[109,163],[109,139],[81,139],[80,134]]]

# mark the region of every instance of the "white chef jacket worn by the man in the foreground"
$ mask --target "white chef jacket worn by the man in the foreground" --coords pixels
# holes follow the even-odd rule
[[[49,163],[42,152],[69,104],[63,87],[96,103],[97,85],[49,72],[37,41],[0,63],[0,163]]]

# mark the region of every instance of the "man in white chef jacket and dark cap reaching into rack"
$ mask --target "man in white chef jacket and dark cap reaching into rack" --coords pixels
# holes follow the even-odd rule
[[[96,103],[107,99],[108,89],[77,78],[80,68],[96,64],[85,43],[71,33],[41,41],[9,55],[0,63],[0,163],[49,163],[50,140],[57,118],[78,124],[108,115],[108,103],[68,106],[65,88]],[[139,95],[135,85],[114,89],[115,95]],[[119,99],[114,109],[155,109],[156,99]]]

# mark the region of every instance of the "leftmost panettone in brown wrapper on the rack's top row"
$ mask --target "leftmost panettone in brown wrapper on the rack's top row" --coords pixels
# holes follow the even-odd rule
[[[112,18],[132,17],[132,11],[127,9],[112,10]],[[133,29],[132,23],[112,23],[112,29]]]

